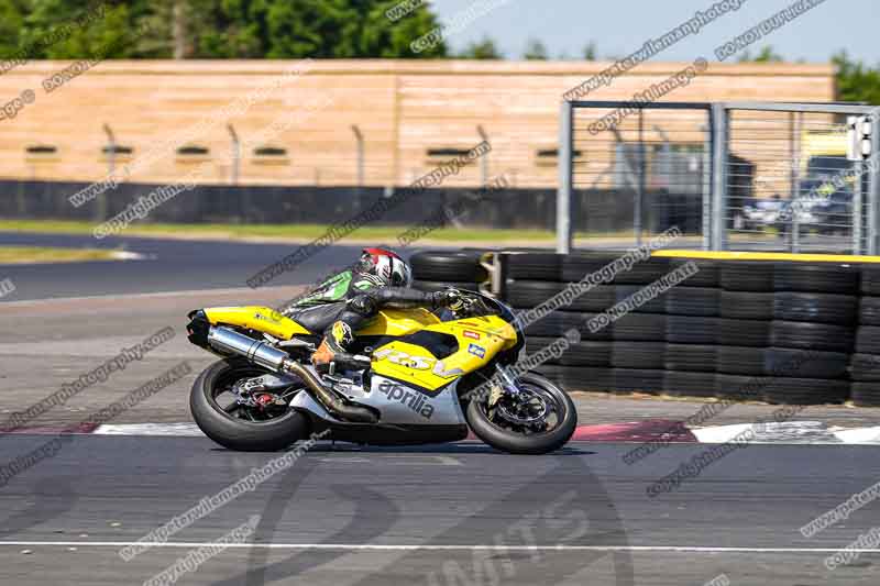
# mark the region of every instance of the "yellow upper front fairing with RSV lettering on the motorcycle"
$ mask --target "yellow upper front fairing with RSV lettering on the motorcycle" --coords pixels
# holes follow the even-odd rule
[[[516,330],[494,316],[438,322],[420,329],[454,335],[459,350],[438,360],[422,346],[394,341],[373,353],[373,372],[435,391],[481,368],[517,342]]]

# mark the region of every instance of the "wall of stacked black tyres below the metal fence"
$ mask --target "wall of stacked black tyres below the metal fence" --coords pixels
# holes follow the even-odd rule
[[[446,274],[462,288],[473,288],[466,285],[471,279],[486,278],[477,251],[422,254],[413,257],[422,288],[442,287]],[[501,297],[526,311],[620,254],[499,257]],[[587,325],[685,263],[695,263],[698,270],[678,286],[605,328],[592,331]],[[438,270],[441,265],[449,273]],[[426,275],[431,278],[424,279]],[[651,257],[528,323],[527,350],[547,346],[572,328],[581,333],[581,342],[538,368],[569,390],[788,405],[851,399],[859,406],[880,406],[877,265]]]

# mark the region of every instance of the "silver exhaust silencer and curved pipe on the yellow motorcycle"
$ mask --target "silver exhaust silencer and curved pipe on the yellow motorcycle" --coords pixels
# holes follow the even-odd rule
[[[275,373],[293,374],[302,379],[323,407],[340,419],[355,423],[377,423],[378,417],[365,407],[348,405],[336,392],[327,388],[315,373],[274,346],[254,340],[234,330],[212,327],[208,330],[208,343],[216,350],[238,354]]]

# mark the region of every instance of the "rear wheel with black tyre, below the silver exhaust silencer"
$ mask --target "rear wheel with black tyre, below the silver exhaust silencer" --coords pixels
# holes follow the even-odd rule
[[[305,440],[309,423],[302,413],[284,407],[274,412],[252,412],[251,408],[237,405],[230,392],[232,385],[266,373],[242,358],[210,365],[193,384],[189,395],[189,408],[199,429],[220,445],[242,452],[273,452]]]

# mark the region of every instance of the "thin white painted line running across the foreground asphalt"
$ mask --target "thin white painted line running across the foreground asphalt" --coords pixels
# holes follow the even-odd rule
[[[213,542],[174,541],[143,543],[140,541],[0,541],[0,546],[90,546],[125,548],[207,548]],[[343,550],[343,551],[515,551],[515,552],[676,552],[676,553],[837,553],[840,548],[704,548],[696,545],[431,545],[431,544],[369,544],[369,543],[226,543],[224,548],[248,550]],[[880,549],[847,550],[856,553],[880,553]]]

